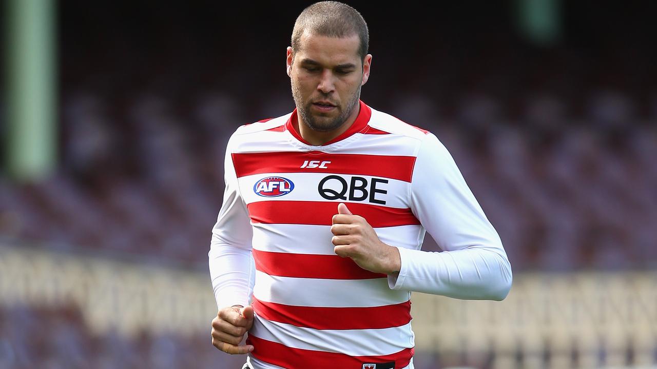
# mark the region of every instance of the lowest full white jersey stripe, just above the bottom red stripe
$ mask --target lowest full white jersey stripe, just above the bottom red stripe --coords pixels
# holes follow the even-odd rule
[[[271,322],[256,316],[250,332],[256,337],[282,343],[293,349],[349,356],[390,355],[414,346],[411,323],[371,330],[316,330]]]

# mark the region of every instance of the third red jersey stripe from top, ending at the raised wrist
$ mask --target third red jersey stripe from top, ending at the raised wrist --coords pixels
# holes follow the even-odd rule
[[[348,257],[253,250],[256,270],[270,276],[321,279],[387,278],[359,267]]]

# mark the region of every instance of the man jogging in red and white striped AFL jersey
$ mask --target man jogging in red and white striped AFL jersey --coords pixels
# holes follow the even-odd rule
[[[244,368],[413,368],[411,291],[509,292],[499,236],[445,147],[360,100],[368,43],[348,5],[305,9],[287,49],[296,110],[227,145],[212,344],[248,353]],[[425,229],[444,251],[420,250]]]

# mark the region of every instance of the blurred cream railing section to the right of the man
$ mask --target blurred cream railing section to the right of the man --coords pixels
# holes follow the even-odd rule
[[[493,357],[500,369],[657,368],[655,272],[516,274],[504,301],[414,293],[412,311],[418,351],[439,357]]]

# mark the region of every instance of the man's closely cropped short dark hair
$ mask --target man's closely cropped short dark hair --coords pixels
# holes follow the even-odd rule
[[[292,30],[292,50],[301,47],[300,39],[308,30],[315,35],[349,37],[357,35],[361,41],[358,54],[361,62],[369,49],[369,31],[361,13],[338,1],[320,1],[299,14]]]

